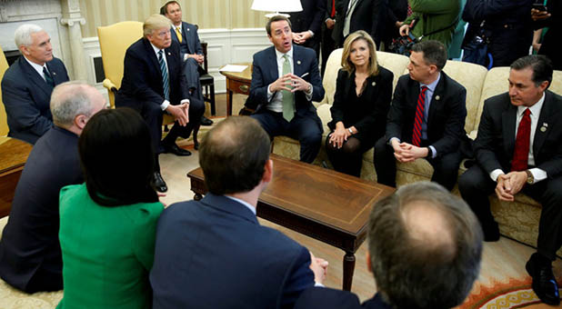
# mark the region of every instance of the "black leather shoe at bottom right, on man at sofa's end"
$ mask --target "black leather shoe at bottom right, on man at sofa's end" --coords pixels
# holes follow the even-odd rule
[[[533,277],[533,291],[545,304],[560,304],[557,280],[552,274],[552,265],[539,264],[533,256],[525,265],[527,273]]]

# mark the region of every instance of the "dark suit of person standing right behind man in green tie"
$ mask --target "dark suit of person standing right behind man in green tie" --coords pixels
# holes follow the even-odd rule
[[[326,11],[326,0],[300,0],[303,10],[300,12],[289,13],[291,29],[294,33],[312,31],[314,36],[306,40],[302,46],[314,49],[316,59],[320,55],[320,39],[322,33],[322,23]]]

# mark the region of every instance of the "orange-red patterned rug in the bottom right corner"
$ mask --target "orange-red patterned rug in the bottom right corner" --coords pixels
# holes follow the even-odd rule
[[[543,304],[531,288],[532,279],[509,279],[507,283],[495,283],[492,286],[476,283],[459,309],[507,309],[507,308],[554,308]],[[560,290],[562,293],[562,290]]]

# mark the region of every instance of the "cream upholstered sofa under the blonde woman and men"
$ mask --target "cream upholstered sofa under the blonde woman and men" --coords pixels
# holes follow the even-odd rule
[[[316,157],[314,164],[320,165],[323,161],[329,164],[326,156],[324,142],[329,133],[327,123],[331,120],[330,107],[334,101],[336,91],[337,71],[341,67],[342,49],[337,49],[328,58],[326,74],[322,84],[326,90],[326,95],[322,102],[315,103],[317,113],[324,124],[324,136],[320,153]],[[408,58],[403,55],[396,55],[384,52],[377,53],[378,63],[394,73],[394,86],[400,75],[407,74],[406,65]],[[490,71],[484,66],[473,65],[458,61],[447,61],[443,69],[447,75],[457,80],[458,83],[467,88],[467,120],[465,131],[471,138],[476,138],[477,128],[480,123],[480,115],[484,106],[484,101],[493,95],[507,92],[508,67],[497,67]],[[555,71],[553,83],[549,88],[551,91],[562,94],[562,72]],[[298,142],[286,136],[278,136],[274,140],[274,153],[298,160]],[[433,168],[425,160],[418,160],[414,164],[396,165],[396,184],[408,184],[416,181],[429,181]],[[458,173],[464,173],[466,168],[463,164]],[[373,165],[373,149],[363,155],[363,167],[361,178],[376,181],[375,166]],[[457,188],[454,192],[458,194]],[[537,245],[538,218],[540,215],[540,204],[529,198],[525,194],[517,194],[515,203],[500,202],[495,196],[490,196],[492,212],[494,213],[501,234],[513,238],[519,242]],[[557,253],[562,256],[562,250]]]

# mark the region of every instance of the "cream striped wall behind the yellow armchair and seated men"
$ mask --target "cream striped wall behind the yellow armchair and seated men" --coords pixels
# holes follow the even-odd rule
[[[276,1],[276,0],[272,0]],[[265,26],[264,13],[250,10],[253,0],[179,0],[184,20],[200,29],[260,28]],[[83,37],[97,36],[96,27],[125,20],[142,22],[158,13],[164,0],[80,0],[86,24]]]

